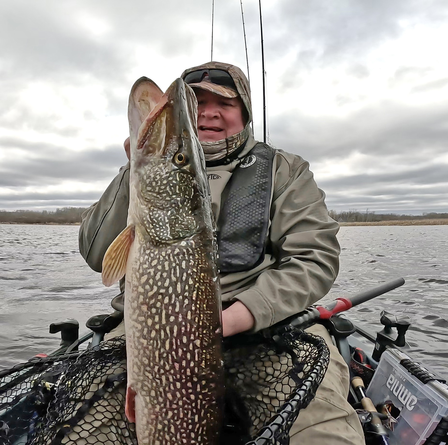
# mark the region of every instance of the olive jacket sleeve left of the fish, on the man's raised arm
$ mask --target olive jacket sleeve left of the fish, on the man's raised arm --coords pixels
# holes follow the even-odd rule
[[[126,227],[129,207],[129,162],[114,178],[99,201],[82,214],[79,251],[95,272],[101,272],[103,257]]]

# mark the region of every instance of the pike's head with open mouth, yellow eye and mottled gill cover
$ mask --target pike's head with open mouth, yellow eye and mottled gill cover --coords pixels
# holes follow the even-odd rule
[[[194,91],[181,78],[163,94],[148,78],[129,96],[129,222],[152,242],[213,230]],[[130,221],[129,221],[130,220]]]

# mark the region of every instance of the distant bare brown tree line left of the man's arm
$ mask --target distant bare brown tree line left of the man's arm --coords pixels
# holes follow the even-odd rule
[[[22,224],[76,224],[81,222],[86,207],[62,207],[56,210],[0,210],[0,223]]]

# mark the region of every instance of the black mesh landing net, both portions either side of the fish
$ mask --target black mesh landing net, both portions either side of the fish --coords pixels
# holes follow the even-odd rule
[[[287,445],[289,429],[323,379],[329,351],[300,330],[225,344],[221,442]],[[125,416],[122,337],[0,371],[0,445],[137,444]]]

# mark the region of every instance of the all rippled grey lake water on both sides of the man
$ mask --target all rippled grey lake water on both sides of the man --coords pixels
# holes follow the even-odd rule
[[[78,226],[0,225],[0,368],[59,346],[50,323],[112,311],[107,289],[78,253]],[[402,276],[406,284],[351,309],[379,328],[383,309],[409,314],[412,355],[448,376],[448,225],[342,227],[340,273],[327,299]]]

